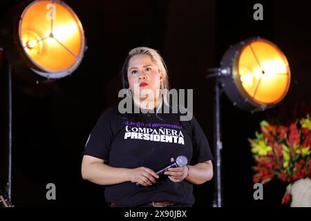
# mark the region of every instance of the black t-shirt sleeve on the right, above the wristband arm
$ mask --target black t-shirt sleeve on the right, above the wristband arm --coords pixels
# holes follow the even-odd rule
[[[192,145],[194,145],[194,157],[192,163],[196,164],[207,160],[214,160],[207,137],[194,116],[191,119],[191,131]]]

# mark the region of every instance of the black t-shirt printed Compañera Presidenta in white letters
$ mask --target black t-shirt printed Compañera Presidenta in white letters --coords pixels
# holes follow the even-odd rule
[[[207,138],[194,117],[180,121],[177,113],[139,113],[133,118],[121,115],[117,108],[102,114],[88,137],[84,155],[105,160],[109,166],[145,166],[155,172],[179,155],[185,155],[191,165],[213,159]],[[167,175],[160,176],[151,186],[132,182],[106,186],[105,198],[126,206],[163,200],[194,204],[192,184],[171,182]]]

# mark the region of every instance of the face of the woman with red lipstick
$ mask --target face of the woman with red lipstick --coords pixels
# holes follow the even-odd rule
[[[153,63],[150,55],[134,55],[127,70],[129,88],[134,97],[156,100],[163,82],[163,73]]]

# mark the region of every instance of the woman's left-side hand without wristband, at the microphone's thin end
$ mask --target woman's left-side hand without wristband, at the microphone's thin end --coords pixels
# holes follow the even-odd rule
[[[159,178],[158,174],[144,166],[131,169],[131,172],[129,173],[129,180],[131,182],[139,183],[142,186],[150,186],[153,183],[155,184],[156,178]]]

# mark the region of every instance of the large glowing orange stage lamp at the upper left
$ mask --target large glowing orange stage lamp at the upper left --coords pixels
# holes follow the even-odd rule
[[[22,75],[33,74],[31,78],[36,81],[73,73],[86,48],[84,30],[75,12],[59,0],[21,3],[13,12],[6,17],[3,36],[3,48],[12,67]]]

